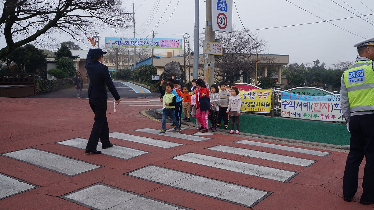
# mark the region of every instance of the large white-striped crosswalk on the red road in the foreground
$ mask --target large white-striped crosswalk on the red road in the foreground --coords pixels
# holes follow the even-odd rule
[[[298,169],[313,167],[313,164],[318,162],[318,160],[321,160],[321,158],[324,158],[330,154],[329,152],[314,149],[304,149],[294,146],[279,145],[276,143],[257,142],[253,140],[233,141],[230,142],[230,145],[225,145],[226,143],[219,144],[209,141],[214,139],[214,134],[210,135],[210,138],[186,134],[195,133],[194,131],[191,131],[192,130],[190,129],[184,129],[183,132],[185,133],[166,132],[166,134],[159,135],[159,130],[141,128],[134,130],[136,135],[113,132],[110,133],[110,138],[116,139],[117,142],[121,142],[123,145],[126,145],[126,142],[134,142],[140,146],[147,145],[147,148],[158,149],[157,151],[163,149],[165,150],[165,153],[167,153],[168,149],[172,149],[174,152],[179,151],[179,153],[174,157],[168,157],[169,160],[177,161],[175,162],[177,164],[196,164],[197,166],[204,166],[214,170],[223,170],[223,172],[237,173],[242,176],[254,176],[258,179],[262,179],[264,182],[271,180],[273,182],[283,182],[284,184],[287,184],[292,178],[300,173]],[[144,137],[145,135],[148,137]],[[174,139],[182,139],[186,143],[177,143],[174,142]],[[62,142],[56,142],[56,144],[60,146],[70,146],[77,149],[85,149],[87,141],[88,139],[75,138],[64,140]],[[185,149],[191,147],[191,145],[199,143],[209,146],[203,146],[194,152],[185,151]],[[235,146],[232,146],[233,143]],[[100,147],[101,143],[98,145],[98,148]],[[261,151],[265,149],[270,149],[270,152]],[[287,151],[287,155],[276,154],[276,152],[272,153],[274,150]],[[152,153],[152,151],[152,149],[143,151],[136,147],[130,148],[121,145],[114,145],[111,148],[102,150],[101,155],[109,155],[111,157],[123,160],[137,160],[136,158],[141,158],[143,155]],[[301,158],[300,154],[306,155],[309,158]],[[23,161],[25,163],[42,167],[43,169],[70,177],[102,167],[99,164],[88,163],[86,161],[81,161],[64,155],[34,148],[8,152],[2,154],[2,156]],[[247,163],[243,161],[243,159],[239,159],[240,157],[257,158],[258,160],[270,161],[273,164],[271,164],[272,166],[263,165],[261,161]],[[316,158],[312,158],[314,160],[310,160],[310,157]],[[274,167],[277,165],[277,163],[286,164],[286,166],[289,167],[284,167],[285,165],[283,165],[282,168]],[[289,168],[291,170],[289,170]],[[183,168],[178,170],[175,168],[169,168],[168,164],[157,166],[149,163],[147,166],[132,169],[132,171],[121,176],[130,176],[134,177],[133,179],[142,179],[143,182],[147,181],[150,183],[158,183],[163,186],[175,188],[176,190],[187,191],[197,195],[215,198],[249,208],[255,206],[257,203],[263,200],[266,200],[266,197],[272,194],[271,191],[258,189],[258,186],[255,188],[251,187],[250,185],[244,186],[236,183],[229,183],[219,180],[217,177],[213,178],[209,177],[209,175],[200,176],[193,173],[187,173],[184,170],[185,169]],[[0,199],[35,188],[33,185],[19,182],[17,179],[13,179],[12,177],[1,176],[1,174],[0,180],[4,180],[5,183],[0,184]],[[19,182],[19,189],[12,191],[3,190],[9,188],[9,186],[15,182]],[[114,197],[112,197],[113,195]],[[103,198],[109,197],[109,200],[106,199],[105,202],[102,201]],[[153,198],[139,195],[135,192],[123,191],[119,188],[104,183],[95,183],[94,185],[86,188],[65,194],[61,196],[61,198],[93,209],[113,208],[177,210],[188,208],[188,206],[183,207],[164,201],[160,202],[154,200]]]

